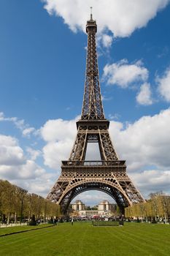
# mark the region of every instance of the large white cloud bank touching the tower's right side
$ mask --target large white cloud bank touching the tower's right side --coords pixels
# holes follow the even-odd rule
[[[167,170],[170,166],[170,109],[155,116],[143,116],[125,129],[110,122],[110,134],[121,159],[126,159],[128,170],[139,172],[145,166]]]

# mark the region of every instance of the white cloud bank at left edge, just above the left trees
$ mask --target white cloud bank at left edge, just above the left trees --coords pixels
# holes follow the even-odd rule
[[[16,138],[0,135],[0,178],[28,189],[28,192],[41,192],[46,196],[54,181],[50,178],[54,178],[54,175],[46,173],[43,167],[34,162],[39,151],[33,148],[27,148],[27,151],[31,159],[26,158]]]

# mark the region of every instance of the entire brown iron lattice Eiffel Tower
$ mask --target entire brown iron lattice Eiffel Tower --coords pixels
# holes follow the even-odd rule
[[[98,78],[96,20],[92,13],[86,25],[88,50],[82,115],[77,121],[77,138],[68,161],[62,161],[61,176],[47,198],[61,206],[66,214],[74,197],[88,190],[106,192],[116,201],[121,213],[134,203],[144,202],[126,173],[125,160],[120,160],[109,136],[109,121],[104,117]],[[101,161],[85,161],[88,143],[98,143]]]

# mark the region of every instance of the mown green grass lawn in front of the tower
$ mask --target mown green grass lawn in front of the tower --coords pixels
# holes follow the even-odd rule
[[[13,232],[18,229],[12,227]],[[5,232],[4,228],[1,232]],[[74,222],[73,226],[63,223],[0,237],[0,255],[169,256],[170,225],[125,223],[123,227],[93,227],[91,222]]]

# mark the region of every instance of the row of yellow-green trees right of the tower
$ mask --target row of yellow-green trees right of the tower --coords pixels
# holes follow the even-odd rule
[[[146,203],[137,203],[125,208],[125,217],[141,217],[142,219],[164,219],[170,217],[170,196],[162,192],[150,194]]]

